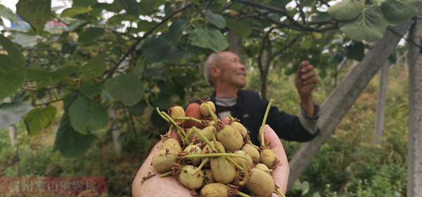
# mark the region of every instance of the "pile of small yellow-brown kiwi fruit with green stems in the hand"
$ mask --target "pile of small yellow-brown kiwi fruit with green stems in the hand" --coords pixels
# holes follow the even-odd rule
[[[261,196],[272,193],[284,196],[271,176],[279,160],[264,141],[264,124],[260,128],[261,146],[250,142],[248,130],[236,118],[223,123],[215,114],[215,104],[202,101],[201,118],[186,116],[184,108],[170,107],[158,114],[170,123],[162,135],[160,151],[153,156],[153,168],[161,177],[177,176],[179,182],[197,196]],[[191,105],[186,108],[186,112]],[[197,112],[199,113],[199,112]],[[196,116],[196,117],[198,117]],[[177,133],[179,139],[170,137]]]

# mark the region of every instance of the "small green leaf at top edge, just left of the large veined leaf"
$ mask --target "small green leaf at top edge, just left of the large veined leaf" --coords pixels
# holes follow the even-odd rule
[[[328,8],[328,14],[339,21],[354,20],[359,13],[362,13],[362,4],[357,0],[343,0]]]

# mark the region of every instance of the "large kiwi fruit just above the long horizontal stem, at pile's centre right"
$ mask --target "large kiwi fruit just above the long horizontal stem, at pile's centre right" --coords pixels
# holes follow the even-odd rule
[[[237,151],[243,145],[243,137],[231,125],[224,125],[222,130],[217,132],[217,140],[222,143],[227,151]]]

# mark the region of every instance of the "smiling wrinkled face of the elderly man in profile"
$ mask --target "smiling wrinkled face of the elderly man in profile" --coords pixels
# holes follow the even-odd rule
[[[219,53],[219,78],[231,86],[243,88],[246,86],[245,65],[236,53],[225,51]]]

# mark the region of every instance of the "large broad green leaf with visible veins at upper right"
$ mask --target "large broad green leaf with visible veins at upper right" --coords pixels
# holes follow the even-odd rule
[[[340,30],[355,41],[376,41],[383,37],[388,22],[380,9],[366,5],[364,11],[350,22],[340,22]]]

